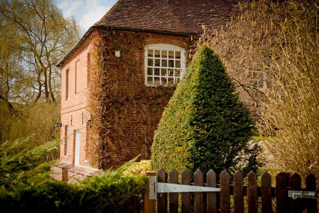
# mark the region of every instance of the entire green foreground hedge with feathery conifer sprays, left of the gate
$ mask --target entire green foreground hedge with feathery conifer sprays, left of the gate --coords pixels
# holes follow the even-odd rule
[[[49,178],[48,163],[41,154],[56,148],[47,143],[31,151],[28,140],[0,146],[0,205],[11,211],[35,212],[139,212],[148,178],[124,176],[133,161],[117,170],[68,184]],[[20,149],[20,150],[19,150]]]

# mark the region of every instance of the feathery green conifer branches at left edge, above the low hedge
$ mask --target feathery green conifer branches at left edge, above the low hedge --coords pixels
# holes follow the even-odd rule
[[[29,150],[32,141],[28,137],[0,145],[1,190],[15,191],[49,178],[49,163],[43,161],[43,155],[55,151],[59,142],[51,141]]]

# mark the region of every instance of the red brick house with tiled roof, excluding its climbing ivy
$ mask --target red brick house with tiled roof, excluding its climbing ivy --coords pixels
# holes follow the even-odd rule
[[[136,49],[137,57],[134,60],[139,62],[140,67],[135,77],[140,80],[140,87],[152,87],[153,92],[156,92],[156,85],[178,84],[187,67],[189,58],[185,53],[192,39],[203,33],[203,25],[214,28],[225,25],[233,15],[234,6],[238,2],[239,0],[118,0],[100,21],[87,30],[78,44],[58,64],[62,70],[62,143],[61,161],[51,167],[54,171],[53,176],[56,179],[72,181],[99,171],[90,167],[90,140],[87,137],[91,131],[88,119],[92,112],[89,108],[88,94],[91,86],[94,32],[105,32],[108,34],[106,38],[110,41],[116,36],[138,35],[143,49]],[[126,54],[125,48],[129,46],[123,44],[121,50],[112,49],[110,54],[121,58]],[[147,138],[145,137],[145,144],[132,146],[133,151],[129,158],[139,154],[142,154],[142,158],[149,157],[153,132],[162,110],[163,108],[160,108],[156,111],[152,125],[145,125],[143,122],[130,125],[136,129],[137,134],[146,132]],[[257,116],[254,109],[252,115]],[[130,116],[139,118],[140,114],[135,112]],[[125,162],[125,159],[121,158],[121,153],[125,153],[125,150],[119,150],[112,140],[103,146],[107,147],[110,153],[107,163],[103,165],[104,168],[116,167]]]

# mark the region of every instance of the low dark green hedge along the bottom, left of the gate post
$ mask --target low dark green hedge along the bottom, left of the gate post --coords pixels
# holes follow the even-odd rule
[[[139,212],[146,181],[141,175],[100,175],[78,185],[50,180],[23,188],[14,196],[1,194],[0,205],[31,212]]]

